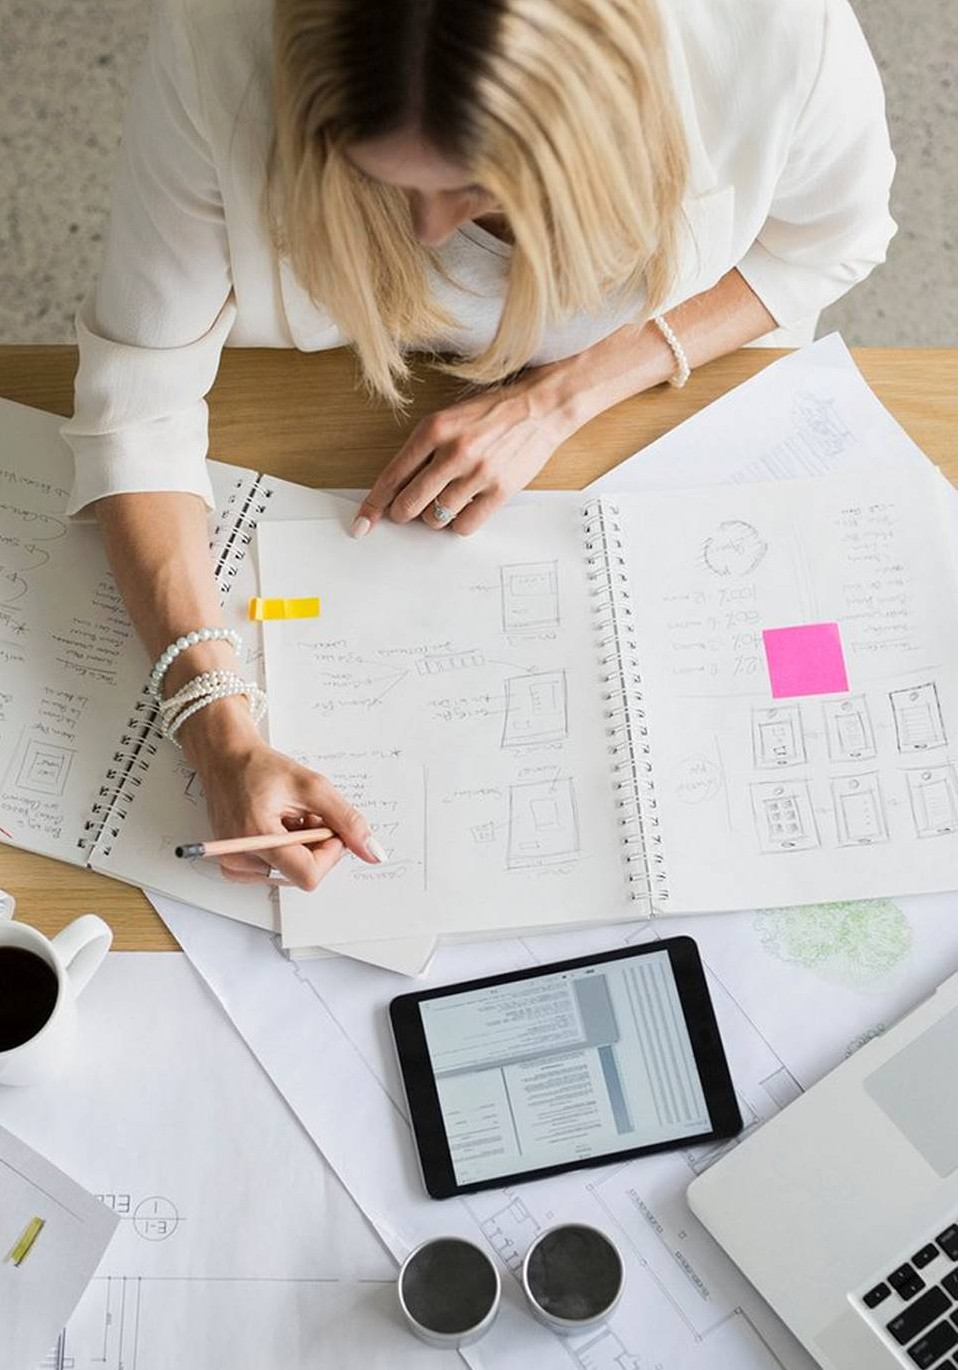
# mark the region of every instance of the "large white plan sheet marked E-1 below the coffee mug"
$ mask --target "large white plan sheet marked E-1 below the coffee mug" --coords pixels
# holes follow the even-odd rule
[[[81,1001],[75,1067],[0,1089],[0,1122],[82,1178],[108,1228],[119,1219],[56,1370],[423,1366],[396,1263],[185,956],[111,954]]]

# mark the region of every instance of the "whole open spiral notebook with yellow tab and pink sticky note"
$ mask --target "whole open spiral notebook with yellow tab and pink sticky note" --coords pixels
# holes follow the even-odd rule
[[[285,945],[956,884],[956,615],[933,469],[257,530],[271,740],[388,851]]]

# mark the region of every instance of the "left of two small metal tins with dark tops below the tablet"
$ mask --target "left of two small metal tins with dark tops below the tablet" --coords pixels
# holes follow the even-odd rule
[[[407,1256],[397,1293],[407,1325],[433,1347],[468,1347],[500,1308],[500,1273],[462,1237],[433,1237]]]

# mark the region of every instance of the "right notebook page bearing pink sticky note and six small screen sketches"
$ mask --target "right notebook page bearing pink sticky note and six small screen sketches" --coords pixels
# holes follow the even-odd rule
[[[618,499],[661,911],[956,884],[938,485],[929,469]],[[787,649],[803,674],[778,697],[764,632],[797,625],[822,627]]]

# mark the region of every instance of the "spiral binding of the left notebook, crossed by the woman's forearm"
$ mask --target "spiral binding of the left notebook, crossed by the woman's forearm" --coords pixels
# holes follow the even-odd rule
[[[257,475],[252,482],[237,481],[223,506],[214,527],[211,553],[214,575],[220,596],[225,596],[230,581],[244,559],[247,548],[256,532],[257,519],[267,508],[273,490],[263,486]],[[104,784],[97,790],[96,801],[84,823],[84,834],[77,845],[88,856],[96,849],[101,858],[110,856],[114,841],[130,811],[144,773],[149,770],[156,756],[160,734],[156,730],[159,710],[147,685],[144,685],[130,718],[126,721],[121,741],[114,752]]]

